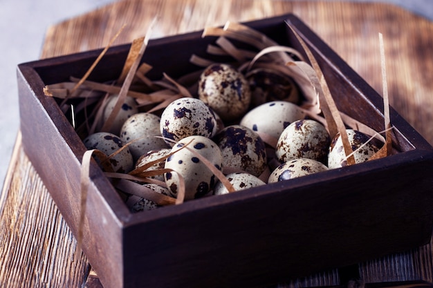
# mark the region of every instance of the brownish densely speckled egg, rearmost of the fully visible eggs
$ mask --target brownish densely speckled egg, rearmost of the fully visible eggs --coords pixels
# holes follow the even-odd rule
[[[208,104],[224,122],[238,119],[250,105],[248,81],[228,64],[212,64],[199,79],[199,99]]]

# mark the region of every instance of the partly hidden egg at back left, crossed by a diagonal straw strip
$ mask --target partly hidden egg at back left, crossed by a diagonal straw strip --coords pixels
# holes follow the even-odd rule
[[[104,120],[103,123],[107,121],[108,117],[111,114],[111,111],[113,111],[113,108],[116,105],[117,97],[118,95],[110,95],[107,99],[107,104],[105,104],[102,117],[102,119]],[[118,115],[116,116],[116,118],[114,118],[113,125],[111,126],[109,132],[115,135],[120,135],[120,128],[122,128],[122,125],[129,117],[136,113],[138,113],[136,100],[132,97],[126,97],[125,102],[122,104],[122,108],[120,108]]]

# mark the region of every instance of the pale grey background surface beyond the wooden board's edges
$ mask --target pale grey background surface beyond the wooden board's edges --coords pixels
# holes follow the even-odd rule
[[[3,187],[12,148],[19,129],[17,64],[39,58],[44,34],[50,25],[112,2],[114,1],[0,0],[0,51],[2,55],[0,57],[1,187]],[[388,0],[382,2],[394,3],[433,21],[433,0]],[[433,73],[433,71],[428,71],[428,73]]]

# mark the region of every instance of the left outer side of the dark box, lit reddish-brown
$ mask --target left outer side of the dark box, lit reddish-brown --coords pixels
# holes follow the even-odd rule
[[[26,74],[24,79],[23,74]],[[80,219],[80,161],[68,146],[58,129],[59,119],[51,119],[47,104],[42,104],[27,81],[40,82],[34,71],[21,67],[18,73],[21,133],[24,151],[41,176],[68,226],[77,236]],[[48,99],[53,100],[53,99]],[[53,102],[53,101],[52,101]],[[49,110],[50,108],[48,108]],[[68,123],[63,123],[67,126]],[[83,152],[84,153],[84,152]],[[109,189],[107,177],[94,163],[92,182],[86,202],[86,214],[82,227],[82,249],[92,266],[106,282],[121,287],[122,279],[122,229],[107,200],[97,186]],[[94,173],[95,172],[95,173]],[[111,191],[111,193],[116,193]]]

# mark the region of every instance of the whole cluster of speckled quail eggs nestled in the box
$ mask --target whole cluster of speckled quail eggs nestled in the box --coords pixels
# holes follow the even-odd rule
[[[160,116],[139,112],[133,99],[128,98],[111,131],[89,135],[84,144],[107,155],[127,144],[110,158],[113,170],[120,173],[169,155],[149,168],[169,169],[170,172],[155,176],[166,187],[145,185],[176,198],[183,178],[185,200],[228,193],[203,157],[216,169],[224,169],[235,190],[344,166],[340,138],[331,140],[322,124],[306,119],[293,103],[297,101],[293,93],[287,99],[279,90],[282,96],[275,98],[275,87],[258,81],[258,75],[246,77],[228,64],[213,64],[201,74],[198,97],[176,99]],[[260,77],[263,80],[266,75]],[[261,87],[257,87],[258,83]],[[257,90],[260,93],[252,93]],[[108,103],[104,115],[113,109]],[[278,140],[276,146],[269,147],[262,140],[263,135]],[[362,133],[348,130],[348,135],[356,150],[356,162],[367,160],[377,151],[376,146],[365,145],[367,137]],[[270,164],[271,160],[277,164]],[[266,171],[272,172],[268,179],[261,180]],[[157,207],[154,202],[135,196],[127,204],[131,211]]]

